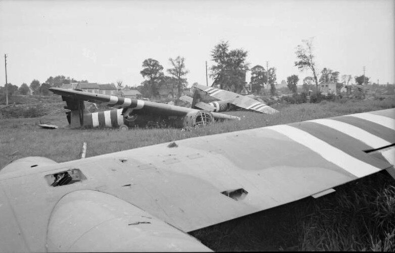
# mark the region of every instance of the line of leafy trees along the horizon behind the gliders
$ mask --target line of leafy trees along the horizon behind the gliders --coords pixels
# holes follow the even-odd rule
[[[337,88],[340,89],[342,85],[348,85],[353,77],[351,75],[339,75],[338,71],[333,71],[330,68],[323,68],[318,71],[315,62],[315,54],[313,49],[312,39],[302,40],[302,44],[297,46],[295,51],[297,61],[294,66],[298,67],[300,71],[309,70],[313,76],[308,76],[303,79],[303,89],[318,90],[318,84],[321,82],[336,83]],[[250,69],[250,63],[246,61],[248,51],[242,48],[230,49],[228,41],[221,41],[211,50],[211,60],[214,64],[210,67],[210,77],[214,79],[213,85],[221,89],[230,90],[240,93],[244,89],[251,87],[248,90],[252,93],[260,94],[263,88],[270,89],[270,94],[276,94],[276,68],[271,67],[265,69],[262,65],[255,65]],[[187,86],[188,82],[186,74],[189,71],[185,67],[185,58],[177,56],[176,58],[169,58],[170,68],[166,70],[168,75],[164,73],[164,67],[159,61],[149,58],[142,62],[142,70],[140,74],[145,79],[138,86],[139,91],[145,97],[158,97],[159,91],[162,87],[170,92],[173,97],[179,97],[182,90]],[[251,85],[246,85],[245,74],[246,71],[251,70]],[[319,76],[319,78],[318,78]],[[339,80],[341,78],[341,83]],[[366,84],[369,82],[369,77],[364,75],[355,76],[357,84]],[[63,84],[71,82],[88,82],[87,80],[77,81],[74,78],[58,75],[55,77],[48,77],[45,82],[40,83],[34,79],[30,85],[23,83],[20,87],[11,83],[7,84],[9,95],[13,94],[32,94],[48,95],[50,87],[60,87]],[[290,75],[287,77],[286,84],[290,91],[297,92],[297,84],[299,82],[298,75]],[[122,86],[122,81],[117,82],[118,86]],[[169,91],[171,90],[171,91]],[[5,93],[5,87],[0,87],[0,94]]]

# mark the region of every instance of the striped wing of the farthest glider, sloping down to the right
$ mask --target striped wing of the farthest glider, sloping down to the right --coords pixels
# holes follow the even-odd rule
[[[266,113],[266,114],[274,114],[278,112],[277,110],[271,108],[270,106],[267,106],[266,104],[259,102],[248,96],[243,96],[231,91],[218,89],[214,87],[207,87],[199,84],[195,85],[195,87],[203,91],[206,91],[210,96],[213,96],[219,100],[232,99],[232,102],[230,103],[240,108],[257,111],[260,113]]]

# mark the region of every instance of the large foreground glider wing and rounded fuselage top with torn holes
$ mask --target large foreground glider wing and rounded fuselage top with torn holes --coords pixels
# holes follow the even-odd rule
[[[64,163],[23,158],[0,170],[0,248],[207,251],[187,233],[381,170],[395,176],[394,143],[389,109]]]

